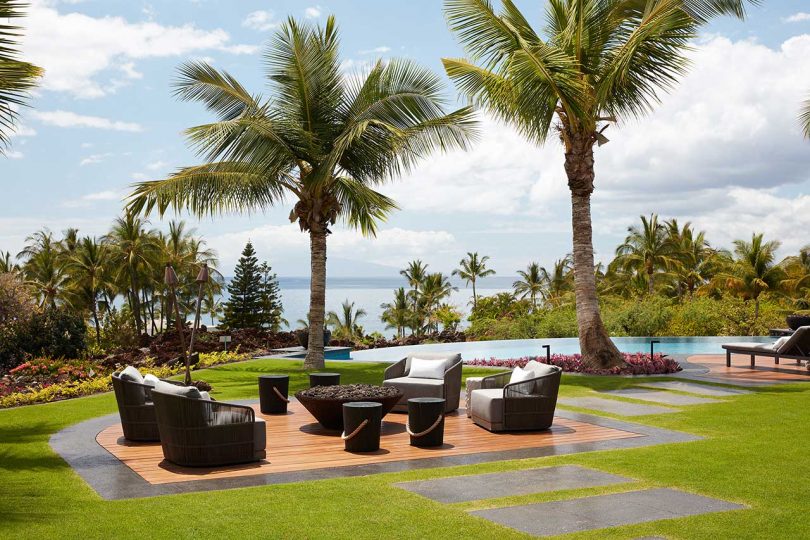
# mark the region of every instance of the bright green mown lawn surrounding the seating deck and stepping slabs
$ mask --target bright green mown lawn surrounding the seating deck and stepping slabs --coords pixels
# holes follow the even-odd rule
[[[381,364],[328,363],[342,382],[379,382]],[[220,400],[256,398],[256,376],[286,372],[306,385],[299,362],[253,360],[197,372]],[[465,370],[465,375],[484,370]],[[636,381],[564,377],[563,395]],[[382,474],[299,484],[104,501],[48,446],[65,426],[115,411],[111,394],[0,411],[0,537],[3,538],[523,538],[467,510],[638,489],[674,487],[750,509],[571,535],[572,538],[810,538],[810,385],[756,390],[725,403],[643,417],[706,437],[690,443],[554,458]],[[268,441],[272,452],[272,441]],[[454,474],[580,464],[638,479],[633,484],[441,505],[392,482]]]

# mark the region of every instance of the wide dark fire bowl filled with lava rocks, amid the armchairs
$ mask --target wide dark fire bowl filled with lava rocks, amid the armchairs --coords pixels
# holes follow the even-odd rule
[[[343,404],[352,401],[372,401],[383,406],[382,415],[391,412],[402,398],[402,391],[390,386],[370,384],[341,384],[315,386],[295,393],[301,405],[326,429],[343,429]]]

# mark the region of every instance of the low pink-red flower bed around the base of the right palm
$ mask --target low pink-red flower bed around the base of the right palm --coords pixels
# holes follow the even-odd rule
[[[551,360],[540,356],[524,356],[522,358],[490,358],[475,359],[466,361],[465,364],[469,366],[483,366],[483,367],[503,367],[515,368],[525,367],[530,360],[536,360],[544,364],[551,364],[562,368],[563,371],[569,373],[587,373],[589,375],[662,375],[666,373],[676,373],[681,370],[678,362],[671,358],[667,358],[662,354],[656,354],[650,358],[649,354],[636,353],[622,353],[624,356],[625,365],[617,366],[611,369],[591,369],[582,363],[582,356],[579,354],[554,354]]]

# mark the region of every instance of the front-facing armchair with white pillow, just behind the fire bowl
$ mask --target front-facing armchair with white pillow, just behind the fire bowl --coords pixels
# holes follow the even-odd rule
[[[444,363],[442,379],[409,377],[411,359],[421,358]],[[402,397],[394,407],[395,412],[408,412],[408,400],[415,397],[444,398],[444,412],[458,409],[461,397],[461,355],[419,354],[403,358],[385,370],[383,386],[393,386],[402,391]]]

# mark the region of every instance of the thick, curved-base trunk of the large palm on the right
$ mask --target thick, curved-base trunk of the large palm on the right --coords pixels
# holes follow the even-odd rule
[[[595,177],[592,133],[569,135],[565,152],[565,172],[571,190],[571,225],[574,234],[574,293],[577,326],[582,361],[590,366],[606,368],[621,365],[624,360],[610,340],[596,294],[596,274],[593,261],[593,225],[591,223],[591,193]]]

